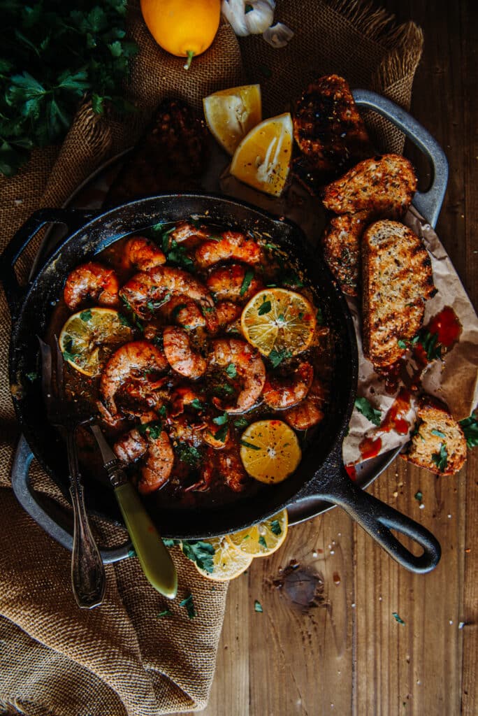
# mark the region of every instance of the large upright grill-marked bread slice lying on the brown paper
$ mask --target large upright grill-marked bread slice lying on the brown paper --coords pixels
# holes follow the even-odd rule
[[[383,368],[403,354],[399,340],[421,328],[425,301],[436,293],[431,261],[411,229],[388,219],[366,229],[361,258],[364,354]]]

